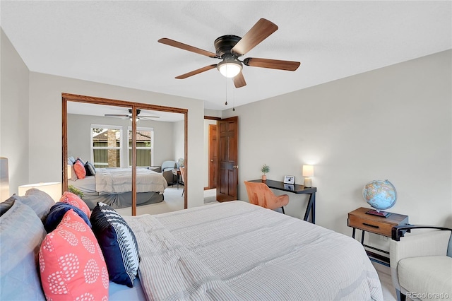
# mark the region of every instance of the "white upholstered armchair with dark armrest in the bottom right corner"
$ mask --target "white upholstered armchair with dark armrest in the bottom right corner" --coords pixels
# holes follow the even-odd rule
[[[432,231],[403,237],[415,229]],[[452,229],[429,225],[393,227],[391,277],[397,299],[452,300]]]

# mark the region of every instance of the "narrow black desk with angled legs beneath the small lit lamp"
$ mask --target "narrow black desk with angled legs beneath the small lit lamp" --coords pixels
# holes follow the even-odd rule
[[[316,187],[304,187],[299,184],[285,184],[280,181],[273,181],[268,179],[263,181],[261,179],[253,179],[249,182],[264,183],[271,189],[278,189],[282,191],[292,192],[292,194],[309,194],[308,206],[306,207],[306,212],[304,213],[303,220],[308,221],[309,213],[311,214],[311,223],[316,223]]]

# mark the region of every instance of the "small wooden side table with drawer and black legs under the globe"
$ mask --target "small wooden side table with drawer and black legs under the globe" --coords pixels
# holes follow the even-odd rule
[[[383,235],[386,237],[391,237],[391,230],[393,226],[397,225],[408,225],[408,216],[403,216],[402,214],[391,213],[386,218],[381,216],[374,216],[371,214],[367,214],[367,211],[371,210],[370,208],[357,208],[356,210],[348,213],[347,218],[347,226],[353,228],[352,237],[355,238],[355,232],[357,229],[362,230],[361,235],[361,244],[368,248],[374,249],[376,251],[389,254],[389,252],[384,251],[382,249],[377,249],[376,247],[371,247],[367,244],[364,244],[364,232],[371,232],[378,235]],[[389,258],[387,256],[383,256],[380,254],[376,254],[369,250],[366,250],[367,255],[372,261],[376,261],[379,264],[384,264],[385,266],[389,266]]]

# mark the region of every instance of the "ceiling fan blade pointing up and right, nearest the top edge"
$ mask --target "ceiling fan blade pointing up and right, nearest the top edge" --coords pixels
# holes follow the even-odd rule
[[[256,47],[256,45],[265,40],[276,30],[278,30],[278,26],[275,25],[275,23],[272,23],[267,19],[259,19],[248,33],[232,47],[231,51],[240,57]]]

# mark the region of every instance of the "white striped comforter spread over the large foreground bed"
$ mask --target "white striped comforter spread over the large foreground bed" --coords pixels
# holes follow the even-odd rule
[[[149,300],[383,300],[359,242],[243,201],[126,217]]]

